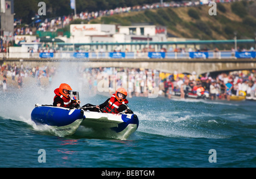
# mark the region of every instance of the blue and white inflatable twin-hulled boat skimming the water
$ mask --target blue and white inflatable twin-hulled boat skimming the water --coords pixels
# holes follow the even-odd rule
[[[59,136],[72,135],[79,126],[92,129],[110,129],[118,139],[127,139],[134,133],[139,120],[136,114],[110,114],[91,112],[83,108],[62,108],[36,104],[31,113],[36,125],[48,125]]]

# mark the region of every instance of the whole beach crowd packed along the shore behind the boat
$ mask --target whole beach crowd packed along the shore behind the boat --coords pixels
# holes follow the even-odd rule
[[[112,94],[118,87],[125,87],[128,97],[165,96],[184,99],[188,93],[200,97],[200,93],[209,93],[211,100],[230,100],[230,96],[256,97],[256,70],[232,71],[210,75],[163,73],[143,68],[88,68],[79,66],[74,69],[78,74],[79,89],[89,95],[108,92]],[[47,88],[53,80],[55,66],[24,67],[22,63],[3,63],[0,71],[0,91],[9,88],[22,88],[24,79],[33,78],[37,86]],[[198,93],[200,87],[203,91]]]

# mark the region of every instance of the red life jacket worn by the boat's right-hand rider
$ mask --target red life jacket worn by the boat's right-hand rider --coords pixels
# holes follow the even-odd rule
[[[125,99],[125,101],[123,101],[122,103],[119,103],[117,101],[117,99],[115,99],[115,93],[112,95],[112,97],[110,97],[110,100],[109,100],[109,104],[106,105],[103,109],[102,109],[102,112],[104,113],[113,113],[113,114],[118,114],[118,108],[119,106],[123,105],[123,104],[128,104],[128,100]]]

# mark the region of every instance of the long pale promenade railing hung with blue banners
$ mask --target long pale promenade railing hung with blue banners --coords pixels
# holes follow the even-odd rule
[[[152,52],[156,56],[150,57],[147,52],[114,52],[117,53],[116,56],[110,56],[112,52],[55,52],[55,53],[0,53],[0,59],[9,59],[9,58],[28,58],[28,59],[37,59],[37,58],[53,58],[53,59],[75,59],[75,58],[89,58],[89,59],[110,59],[110,58],[126,58],[126,59],[147,59],[147,58],[166,58],[166,59],[190,59],[190,58],[204,58],[204,59],[228,59],[236,58],[235,52],[231,51],[219,51],[219,52],[207,52],[207,56],[196,56],[191,57],[191,52]],[[200,53],[200,52],[195,52]],[[205,52],[201,52],[203,54]],[[245,52],[246,53],[246,52]],[[255,53],[255,52],[253,52]],[[242,57],[245,58],[245,57]],[[248,57],[248,58],[255,58]]]

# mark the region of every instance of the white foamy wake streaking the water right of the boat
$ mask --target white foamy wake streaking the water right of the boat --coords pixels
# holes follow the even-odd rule
[[[191,112],[138,113],[140,126],[138,132],[162,135],[164,137],[185,138],[228,138],[221,128],[228,127],[224,118],[207,113]]]

